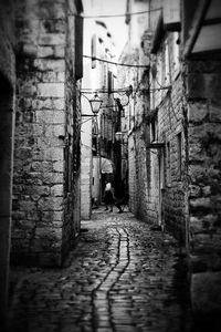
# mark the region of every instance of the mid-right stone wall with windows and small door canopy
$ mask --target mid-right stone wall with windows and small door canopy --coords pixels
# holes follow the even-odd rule
[[[187,121],[177,39],[177,32],[168,32],[151,58],[150,200],[157,207],[156,221],[170,229],[185,245],[188,219]]]

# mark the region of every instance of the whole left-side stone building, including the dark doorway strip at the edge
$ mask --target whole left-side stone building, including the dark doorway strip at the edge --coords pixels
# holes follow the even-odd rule
[[[80,231],[81,0],[0,3],[0,318],[9,262],[61,266]]]

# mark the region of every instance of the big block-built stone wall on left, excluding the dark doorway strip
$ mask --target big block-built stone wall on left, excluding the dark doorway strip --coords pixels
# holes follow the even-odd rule
[[[18,2],[13,263],[60,266],[78,222],[75,10],[73,1]]]

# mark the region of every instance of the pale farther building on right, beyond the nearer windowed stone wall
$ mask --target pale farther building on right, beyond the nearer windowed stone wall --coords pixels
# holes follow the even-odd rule
[[[122,63],[131,68],[118,70],[118,87],[133,85],[133,95],[125,106],[123,131],[128,133],[128,188],[129,208],[140,219],[147,220],[148,169],[146,139],[148,128],[144,118],[149,110],[147,94],[149,81],[149,22],[146,11],[148,1],[127,1],[128,12],[143,12],[138,17],[127,14],[128,42],[120,55]],[[134,66],[133,66],[134,65]],[[154,212],[154,208],[152,208]]]

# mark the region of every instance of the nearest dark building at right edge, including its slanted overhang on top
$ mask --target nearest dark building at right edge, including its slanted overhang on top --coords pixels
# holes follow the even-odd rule
[[[182,12],[191,299],[207,318],[221,312],[221,6],[183,3]]]

